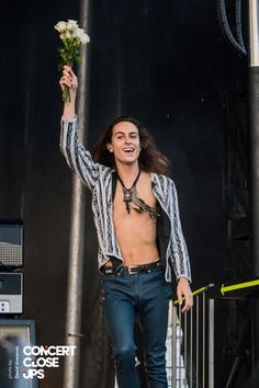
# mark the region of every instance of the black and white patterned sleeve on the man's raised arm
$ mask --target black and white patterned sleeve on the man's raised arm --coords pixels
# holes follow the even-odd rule
[[[94,163],[91,153],[78,141],[77,117],[61,118],[60,150],[68,166],[90,190],[93,189],[100,173],[100,164]]]

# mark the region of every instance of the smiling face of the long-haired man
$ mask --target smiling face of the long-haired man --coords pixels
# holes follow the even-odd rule
[[[140,152],[140,141],[137,127],[131,122],[121,122],[112,129],[111,142],[108,149],[113,152],[115,163],[134,164]]]

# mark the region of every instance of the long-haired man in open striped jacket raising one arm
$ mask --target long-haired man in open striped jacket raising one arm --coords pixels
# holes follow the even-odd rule
[[[64,67],[59,84],[70,89],[61,119],[60,148],[92,192],[99,270],[120,388],[140,388],[135,367],[134,322],[144,332],[149,388],[167,388],[166,335],[174,272],[182,311],[192,306],[190,264],[168,160],[132,117],[106,128],[93,157],[77,139],[77,77]]]

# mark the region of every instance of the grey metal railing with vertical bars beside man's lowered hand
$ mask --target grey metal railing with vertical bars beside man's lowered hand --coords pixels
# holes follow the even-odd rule
[[[214,299],[209,285],[193,293],[193,308],[182,313],[170,305],[167,338],[169,388],[214,388]]]

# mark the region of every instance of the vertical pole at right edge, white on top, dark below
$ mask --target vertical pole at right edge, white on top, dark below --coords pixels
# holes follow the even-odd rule
[[[249,0],[249,157],[250,217],[254,276],[259,276],[259,14],[258,0]],[[259,362],[259,296],[254,298],[254,366]]]

